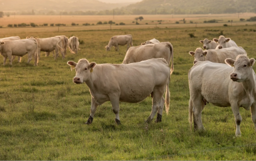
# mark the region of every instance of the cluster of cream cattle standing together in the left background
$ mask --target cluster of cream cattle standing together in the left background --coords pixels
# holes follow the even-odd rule
[[[60,51],[62,58],[65,59],[67,48],[69,48],[71,53],[77,53],[79,50],[78,38],[73,36],[68,39],[65,35],[60,35],[43,39],[34,37],[21,39],[18,36],[0,39],[0,53],[3,55],[3,65],[5,65],[7,57],[9,64],[12,65],[16,56],[19,57],[18,61],[21,62],[21,57],[27,54],[27,63],[29,63],[33,57],[35,61],[34,65],[37,66],[41,51],[45,52],[45,56],[49,56],[49,53],[53,51],[55,59]]]

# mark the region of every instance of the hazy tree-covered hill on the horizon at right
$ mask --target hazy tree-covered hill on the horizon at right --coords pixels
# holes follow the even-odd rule
[[[131,14],[200,14],[256,12],[255,0],[143,0],[123,9]]]

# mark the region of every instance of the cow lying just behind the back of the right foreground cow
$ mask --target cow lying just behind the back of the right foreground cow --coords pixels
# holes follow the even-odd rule
[[[209,49],[203,51],[201,47],[195,49],[195,52],[189,51],[189,54],[194,57],[194,64],[198,61],[211,61],[213,63],[225,63],[225,59],[235,59],[237,55],[247,55],[243,47],[229,47],[221,50]]]

